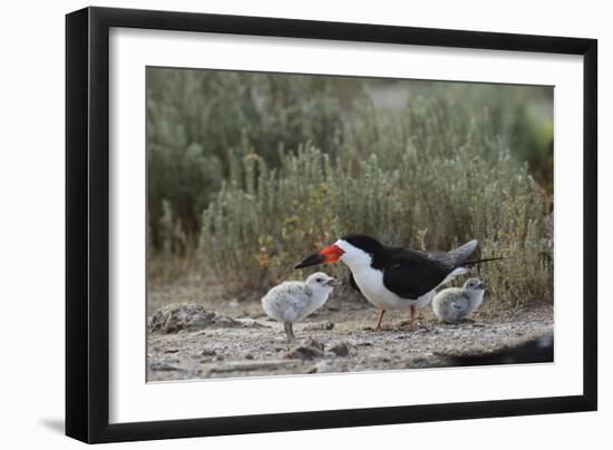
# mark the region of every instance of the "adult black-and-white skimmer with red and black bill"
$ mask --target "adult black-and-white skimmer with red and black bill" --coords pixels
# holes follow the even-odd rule
[[[306,256],[295,268],[342,261],[351,272],[351,286],[380,310],[376,330],[381,329],[388,309],[410,307],[412,326],[416,306],[427,305],[437,287],[467,273],[464,265],[495,260],[468,262],[476,248],[477,241],[473,239],[450,252],[428,253],[389,247],[373,237],[354,234]]]

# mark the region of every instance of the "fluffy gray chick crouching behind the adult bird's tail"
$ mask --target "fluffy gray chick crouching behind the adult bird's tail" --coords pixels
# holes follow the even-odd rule
[[[469,278],[463,287],[448,287],[432,299],[432,312],[444,322],[457,322],[480,306],[485,284],[478,278]]]

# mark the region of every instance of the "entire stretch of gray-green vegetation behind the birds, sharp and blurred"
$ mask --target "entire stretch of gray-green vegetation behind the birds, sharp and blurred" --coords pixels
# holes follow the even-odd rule
[[[148,68],[149,278],[197,268],[257,296],[343,234],[426,250],[476,237],[506,256],[479,268],[494,305],[552,300],[552,92]]]

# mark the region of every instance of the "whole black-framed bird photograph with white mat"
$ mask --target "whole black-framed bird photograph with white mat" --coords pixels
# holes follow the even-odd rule
[[[66,432],[593,411],[593,39],[66,19]]]

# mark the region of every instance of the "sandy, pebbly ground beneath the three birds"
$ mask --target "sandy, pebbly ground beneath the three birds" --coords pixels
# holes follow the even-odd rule
[[[457,324],[438,323],[428,307],[413,330],[408,311],[391,311],[377,332],[378,311],[344,291],[295,324],[289,343],[260,302],[214,294],[189,283],[149,286],[149,381],[446,366],[446,355],[488,353],[553,332],[553,307],[543,303],[513,314],[484,309]]]

